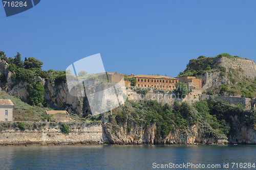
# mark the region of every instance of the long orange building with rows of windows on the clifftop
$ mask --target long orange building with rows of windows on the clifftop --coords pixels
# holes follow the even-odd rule
[[[178,79],[168,76],[150,76],[150,75],[137,75],[136,78],[137,87],[150,87],[162,90],[173,90],[175,84],[179,82]]]

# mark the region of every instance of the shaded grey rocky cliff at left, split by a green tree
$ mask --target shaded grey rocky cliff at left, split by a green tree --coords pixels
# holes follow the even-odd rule
[[[18,83],[11,78],[12,72],[8,70],[8,63],[4,60],[0,60],[0,75],[4,75],[6,81],[1,82],[1,89],[5,90],[9,95],[13,95],[25,102],[29,102],[29,93],[27,85],[29,83],[19,81]],[[51,74],[51,73],[50,73]],[[90,107],[86,98],[72,96],[69,93],[66,82],[59,84],[51,83],[49,79],[36,78],[40,81],[45,88],[44,98],[48,102],[49,106],[56,109],[67,110],[81,116],[89,111]]]

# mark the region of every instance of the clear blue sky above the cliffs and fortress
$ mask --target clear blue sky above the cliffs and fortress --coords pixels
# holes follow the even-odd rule
[[[189,59],[221,53],[256,60],[256,1],[41,0],[6,17],[0,51],[65,70],[101,54],[106,71],[176,77]]]

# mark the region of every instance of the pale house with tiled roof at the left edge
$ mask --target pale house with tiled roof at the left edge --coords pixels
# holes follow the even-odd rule
[[[13,106],[10,99],[0,99],[0,121],[12,121]]]

